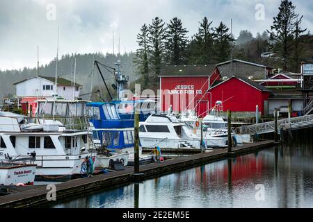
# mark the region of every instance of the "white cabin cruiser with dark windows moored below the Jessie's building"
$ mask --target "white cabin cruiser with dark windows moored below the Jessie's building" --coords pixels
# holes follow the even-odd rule
[[[139,138],[143,148],[200,148],[200,137],[170,114],[152,114],[141,122]],[[226,146],[225,138],[203,138],[207,147]]]

